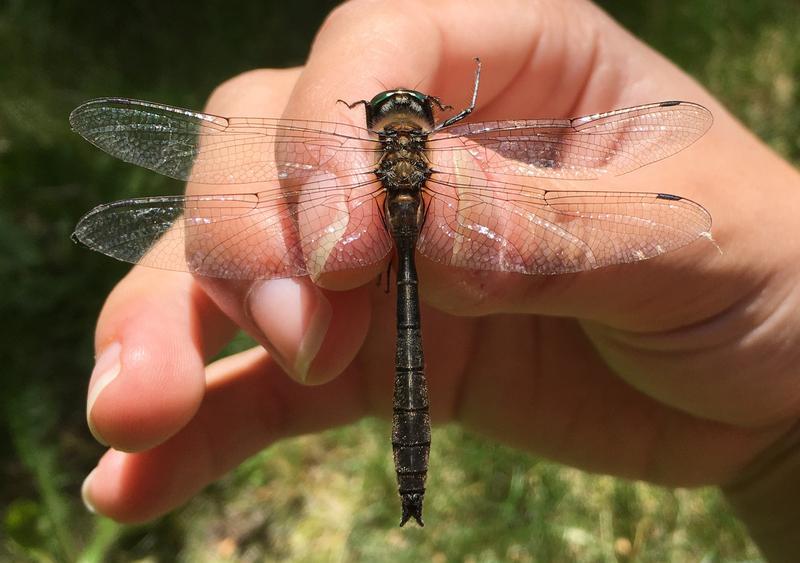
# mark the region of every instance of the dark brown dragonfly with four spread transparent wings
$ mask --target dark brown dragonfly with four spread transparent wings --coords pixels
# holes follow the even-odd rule
[[[431,442],[417,253],[456,268],[537,276],[637,262],[710,236],[708,211],[679,195],[566,185],[685,149],[711,127],[709,110],[665,101],[573,119],[465,121],[477,102],[476,63],[470,105],[438,122],[452,108],[405,88],[347,104],[363,107],[365,127],[222,117],[126,98],[90,100],[69,118],[114,157],[213,186],[95,207],[73,234],[93,250],[238,280],[317,279],[394,253],[391,441],[401,526],[411,518],[423,525]]]

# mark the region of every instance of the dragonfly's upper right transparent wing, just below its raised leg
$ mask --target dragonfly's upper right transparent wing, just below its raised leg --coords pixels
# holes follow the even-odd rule
[[[661,102],[578,117],[487,121],[431,136],[434,169],[583,180],[625,174],[699,139],[711,112],[691,102]]]

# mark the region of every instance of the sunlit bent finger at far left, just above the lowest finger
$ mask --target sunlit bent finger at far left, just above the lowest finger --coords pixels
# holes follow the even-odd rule
[[[234,330],[190,275],[134,268],[97,324],[87,399],[94,436],[136,451],[174,434],[202,401],[205,359]]]

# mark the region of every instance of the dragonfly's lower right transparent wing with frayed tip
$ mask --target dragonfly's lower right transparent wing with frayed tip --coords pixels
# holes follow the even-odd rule
[[[543,190],[455,175],[428,181],[418,242],[450,266],[563,274],[652,258],[707,235],[697,203],[660,193]]]

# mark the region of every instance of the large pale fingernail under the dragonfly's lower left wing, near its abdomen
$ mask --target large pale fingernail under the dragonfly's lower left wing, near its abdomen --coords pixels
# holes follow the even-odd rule
[[[250,314],[271,344],[275,360],[305,383],[328,333],[333,310],[319,288],[291,278],[253,287]]]

